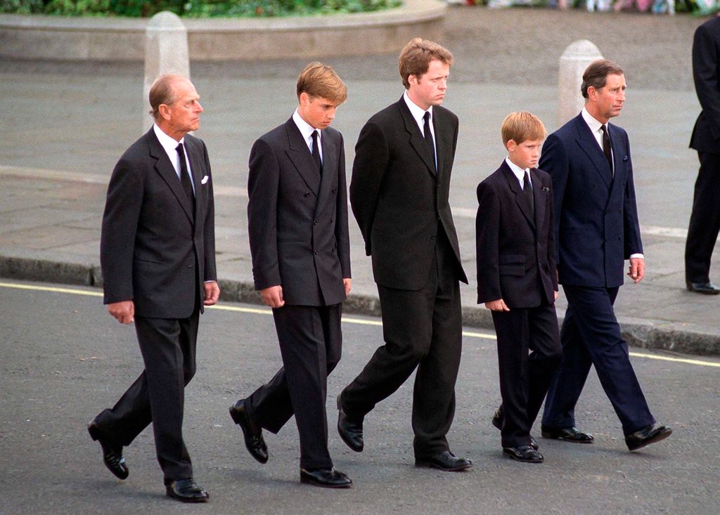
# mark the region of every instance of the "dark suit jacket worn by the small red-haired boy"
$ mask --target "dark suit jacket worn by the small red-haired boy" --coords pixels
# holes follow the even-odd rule
[[[557,290],[550,176],[530,170],[535,216],[505,161],[477,186],[477,303],[554,304]]]

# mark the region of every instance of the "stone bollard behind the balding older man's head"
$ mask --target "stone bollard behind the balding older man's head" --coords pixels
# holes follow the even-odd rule
[[[187,29],[177,14],[163,11],[150,18],[145,29],[145,86],[143,88],[143,132],[153,124],[150,111],[150,86],[163,73],[190,78]]]

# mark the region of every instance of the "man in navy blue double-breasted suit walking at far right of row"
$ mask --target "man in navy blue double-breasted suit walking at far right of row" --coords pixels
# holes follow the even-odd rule
[[[667,438],[655,425],[630,363],[613,304],[627,275],[645,275],[635,200],[630,142],[611,118],[625,104],[625,75],[616,63],[593,61],[582,75],[585,107],[545,140],[540,168],[554,192],[558,281],[567,296],[562,323],[562,362],[547,393],[542,436],[592,443],[575,427],[575,405],[595,365],[629,450]]]

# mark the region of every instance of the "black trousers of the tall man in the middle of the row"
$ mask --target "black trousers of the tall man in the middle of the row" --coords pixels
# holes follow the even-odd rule
[[[351,419],[361,419],[417,368],[413,391],[416,457],[449,449],[445,435],[455,414],[462,310],[455,258],[449,243],[442,240],[445,237],[438,237],[436,257],[422,290],[378,285],[385,345],[341,393],[343,411]]]

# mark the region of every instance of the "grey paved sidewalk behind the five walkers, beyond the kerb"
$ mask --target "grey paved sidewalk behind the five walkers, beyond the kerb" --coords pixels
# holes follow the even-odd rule
[[[488,17],[511,22],[511,14],[523,15],[526,23],[544,24],[552,30],[557,20],[568,23],[568,32],[582,32],[578,20],[598,20],[609,30],[608,21],[622,23],[624,33],[647,30],[645,17],[611,15],[578,16],[547,10],[513,9],[498,13],[481,9],[453,9],[459,32],[456,42],[458,75],[451,82],[446,106],[461,120],[460,140],[451,192],[462,255],[471,284],[464,286],[462,299],[467,324],[492,327],[489,311],[475,304],[474,210],[475,186],[497,168],[503,159],[500,121],[510,111],[530,110],[544,119],[550,131],[557,128],[557,86],[545,80],[511,83],[498,78],[496,70],[485,78],[483,56],[472,43],[474,35],[487,37],[492,30]],[[474,34],[462,25],[460,14],[485,23]],[[557,14],[553,17],[552,14]],[[534,18],[533,18],[534,17]],[[650,17],[647,17],[650,18]],[[662,19],[666,35],[675,35],[671,45],[688,62],[667,63],[675,73],[686,74],[694,27],[701,19]],[[638,28],[639,27],[639,28]],[[461,30],[462,29],[462,30]],[[593,24],[593,29],[598,30]],[[531,35],[532,37],[532,35]],[[559,39],[568,37],[563,35]],[[464,38],[464,45],[459,41]],[[639,35],[639,39],[643,38]],[[505,42],[498,48],[506,53]],[[651,45],[652,42],[647,42]],[[450,46],[450,43],[448,43]],[[623,63],[627,54],[616,42],[598,44],[608,57]],[[632,53],[635,47],[626,50]],[[453,49],[453,47],[451,47]],[[559,54],[539,55],[554,63]],[[492,49],[485,48],[489,55]],[[654,57],[653,57],[654,56]],[[657,49],[647,48],[643,70],[663,65]],[[338,110],[334,126],[343,132],[348,159],[348,176],[353,147],[366,119],[395,101],[402,93],[396,71],[397,57],[328,60],[347,77],[349,99]],[[490,58],[488,58],[490,59]],[[508,60],[509,59],[509,60]],[[637,62],[633,58],[633,62]],[[654,61],[653,61],[654,59]],[[477,62],[477,67],[472,63]],[[505,55],[495,65],[512,65]],[[649,64],[648,64],[649,63]],[[99,231],[109,173],[120,154],[140,135],[140,92],[142,64],[117,67],[103,65],[52,65],[45,63],[0,63],[0,275],[40,281],[83,283],[99,286]],[[294,61],[265,64],[199,65],[193,80],[205,112],[197,132],[210,150],[217,204],[217,260],[224,298],[254,301],[251,263],[246,229],[246,181],[248,153],[253,140],[282,123],[294,109],[294,78],[304,63]],[[6,65],[6,66],[4,66]],[[477,69],[475,69],[477,68]],[[380,70],[371,73],[372,70]],[[390,70],[390,71],[388,71]],[[475,76],[472,76],[473,70]],[[627,74],[631,76],[631,71]],[[381,73],[382,72],[382,73]],[[663,70],[672,77],[672,70]],[[462,76],[465,79],[462,79]],[[472,76],[468,78],[469,76]],[[685,291],[683,273],[684,234],[692,201],[698,163],[687,143],[699,106],[688,77],[678,83],[654,83],[645,78],[642,87],[629,81],[629,99],[617,119],[628,129],[639,195],[640,222],[647,255],[647,278],[639,285],[621,288],[616,313],[626,337],[633,345],[676,352],[720,355],[720,296],[701,296]],[[666,81],[667,82],[667,81]],[[351,219],[354,290],[347,311],[377,314],[377,291],[372,281],[369,258],[364,256],[361,236]],[[720,254],[716,252],[711,275],[720,281]],[[559,314],[564,311],[559,300]]]

